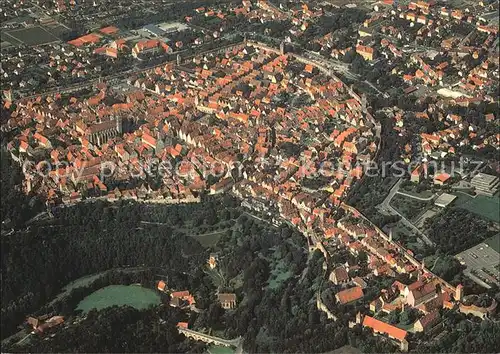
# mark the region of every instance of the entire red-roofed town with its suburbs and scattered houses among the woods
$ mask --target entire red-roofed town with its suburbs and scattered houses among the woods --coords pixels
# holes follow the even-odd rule
[[[412,351],[446,338],[450,313],[498,321],[499,4],[460,4],[7,1],[2,148],[48,213],[236,197],[321,252],[328,321],[345,316],[332,301],[355,305],[349,330]],[[200,312],[168,285],[172,307]]]

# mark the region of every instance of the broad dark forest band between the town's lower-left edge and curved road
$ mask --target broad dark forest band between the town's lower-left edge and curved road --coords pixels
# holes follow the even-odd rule
[[[127,205],[88,203],[54,213],[47,225],[2,237],[2,336],[84,275],[136,265],[191,270],[205,261],[196,240],[166,225],[141,224],[139,209]]]

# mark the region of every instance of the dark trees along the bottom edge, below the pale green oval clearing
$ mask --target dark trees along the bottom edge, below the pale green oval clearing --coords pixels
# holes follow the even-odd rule
[[[113,306],[91,310],[78,325],[70,325],[50,340],[34,336],[11,352],[35,353],[201,353],[205,346],[185,340],[176,329],[183,315],[170,306],[136,310]],[[45,337],[46,338],[46,337]]]

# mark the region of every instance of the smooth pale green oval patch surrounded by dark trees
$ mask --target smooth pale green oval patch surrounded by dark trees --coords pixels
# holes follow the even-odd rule
[[[76,309],[87,313],[93,308],[101,310],[114,305],[128,305],[141,310],[160,302],[160,295],[153,289],[139,285],[110,285],[85,297]]]

